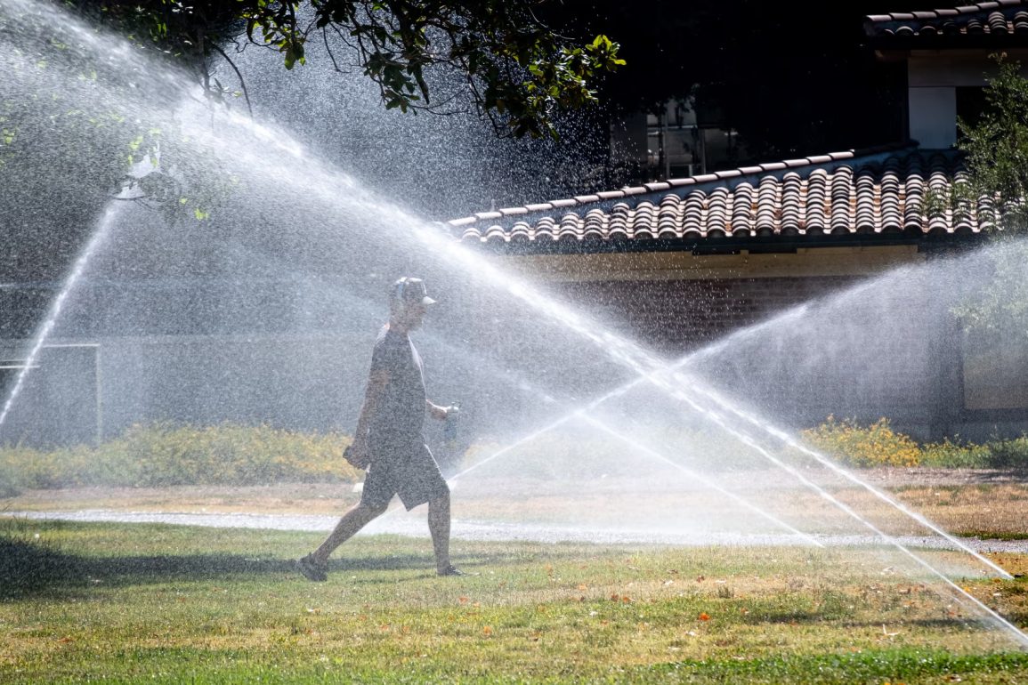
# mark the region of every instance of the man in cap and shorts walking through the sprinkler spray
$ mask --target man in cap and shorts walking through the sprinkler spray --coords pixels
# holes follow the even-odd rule
[[[364,491],[360,503],[339,520],[321,546],[296,562],[308,580],[326,580],[329,555],[384,512],[394,495],[400,495],[408,510],[429,503],[436,572],[464,575],[449,560],[449,487],[421,435],[426,411],[443,420],[449,408],[426,396],[421,357],[407,335],[421,325],[426,308],[434,302],[420,278],[400,278],[390,291],[390,320],[375,341],[347,457],[368,469]]]

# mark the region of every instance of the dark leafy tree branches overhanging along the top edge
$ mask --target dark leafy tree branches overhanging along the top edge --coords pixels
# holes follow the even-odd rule
[[[336,69],[344,68],[340,45],[352,48],[387,108],[445,108],[427,75],[448,67],[498,130],[519,137],[554,135],[555,112],[595,103],[597,79],[624,64],[607,36],[574,39],[540,21],[540,0],[70,1],[185,62],[217,94],[225,88],[211,81],[207,63],[213,53],[229,59],[227,42],[242,37],[277,50],[293,69],[320,39]]]

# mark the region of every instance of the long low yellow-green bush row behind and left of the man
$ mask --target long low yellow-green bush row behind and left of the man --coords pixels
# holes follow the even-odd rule
[[[263,425],[135,425],[96,448],[0,449],[0,483],[5,471],[15,485],[40,489],[354,483],[360,471],[342,458],[350,442]]]

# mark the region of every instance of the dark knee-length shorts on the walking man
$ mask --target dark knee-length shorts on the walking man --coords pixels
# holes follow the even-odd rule
[[[400,445],[369,445],[371,465],[364,479],[361,503],[387,506],[394,495],[407,510],[449,494],[429,446],[424,442]]]

